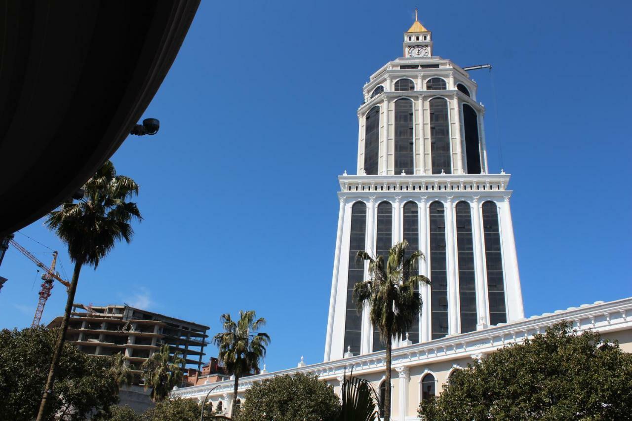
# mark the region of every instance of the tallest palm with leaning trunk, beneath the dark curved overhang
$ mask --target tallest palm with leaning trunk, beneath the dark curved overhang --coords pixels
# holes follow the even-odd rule
[[[129,177],[116,175],[114,165],[107,161],[83,185],[83,197],[78,202],[69,199],[61,204],[58,210],[48,214],[46,225],[68,245],[68,255],[74,262],[75,269],[37,421],[44,419],[46,403],[52,393],[68,330],[68,319],[75,301],[79,272],[83,265],[90,265],[96,269],[117,241],[131,241],[134,231],[130,222],[132,219],[140,221],[142,217],[136,204],[126,200],[137,194],[138,184]]]

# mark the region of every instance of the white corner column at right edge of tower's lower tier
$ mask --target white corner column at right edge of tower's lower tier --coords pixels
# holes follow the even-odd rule
[[[525,317],[520,287],[520,273],[518,272],[518,255],[516,255],[516,240],[514,239],[513,223],[509,196],[504,202],[497,202],[499,228],[502,245],[502,270],[505,278],[505,297],[507,305],[507,322]]]

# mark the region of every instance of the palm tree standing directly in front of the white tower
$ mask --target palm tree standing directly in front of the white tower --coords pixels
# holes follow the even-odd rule
[[[386,393],[384,402],[380,402],[386,421],[391,419],[392,338],[404,336],[413,326],[415,315],[422,309],[419,283],[430,284],[428,278],[415,274],[417,262],[423,259],[423,253],[406,253],[406,247],[406,240],[391,247],[386,267],[383,256],[373,259],[367,252],[360,250],[358,260],[368,260],[370,279],[355,284],[353,288],[358,311],[368,305],[371,322],[380,333],[380,341],[386,343]]]

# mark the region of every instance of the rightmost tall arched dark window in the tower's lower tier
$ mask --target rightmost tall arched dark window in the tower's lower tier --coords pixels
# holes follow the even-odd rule
[[[485,233],[487,291],[489,291],[489,324],[494,326],[507,322],[501,233],[498,224],[498,209],[494,202],[483,203],[483,232]]]

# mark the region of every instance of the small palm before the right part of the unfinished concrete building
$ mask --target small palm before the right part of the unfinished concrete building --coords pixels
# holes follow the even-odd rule
[[[181,353],[176,351],[171,355],[169,345],[164,344],[158,352],[147,358],[140,368],[143,370],[145,390],[152,389],[152,400],[161,401],[182,381],[180,366],[185,363]]]

